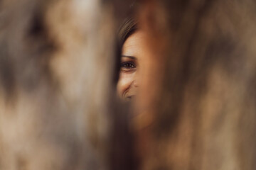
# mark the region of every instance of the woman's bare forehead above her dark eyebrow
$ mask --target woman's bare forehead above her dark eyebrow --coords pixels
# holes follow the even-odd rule
[[[144,53],[146,35],[138,30],[127,38],[122,47],[122,55],[140,57]]]

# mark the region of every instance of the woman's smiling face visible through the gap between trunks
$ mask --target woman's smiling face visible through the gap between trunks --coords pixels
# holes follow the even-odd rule
[[[145,35],[138,30],[124,42],[117,93],[124,100],[131,100],[139,89],[139,81],[146,63]]]

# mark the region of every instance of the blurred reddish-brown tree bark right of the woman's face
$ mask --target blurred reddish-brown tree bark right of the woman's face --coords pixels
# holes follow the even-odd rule
[[[163,76],[146,79],[134,120],[142,169],[256,168],[255,5],[144,1],[148,72]]]

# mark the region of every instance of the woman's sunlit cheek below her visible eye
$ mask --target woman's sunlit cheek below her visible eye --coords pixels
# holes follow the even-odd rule
[[[124,94],[124,91],[129,90],[129,86],[132,84],[133,74],[121,72],[119,75],[119,81],[117,83],[117,93],[119,96]]]

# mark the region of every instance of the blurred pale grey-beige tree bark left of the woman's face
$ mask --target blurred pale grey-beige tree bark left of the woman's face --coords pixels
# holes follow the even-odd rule
[[[110,7],[1,1],[0,169],[108,169]]]

